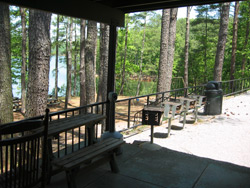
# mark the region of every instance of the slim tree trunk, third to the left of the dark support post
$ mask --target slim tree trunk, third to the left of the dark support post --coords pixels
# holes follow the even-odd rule
[[[85,27],[86,21],[82,19],[80,31],[80,106],[85,106],[87,104],[85,74]]]

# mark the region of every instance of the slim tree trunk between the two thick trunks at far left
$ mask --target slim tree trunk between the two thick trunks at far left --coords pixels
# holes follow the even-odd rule
[[[21,14],[21,23],[22,23],[22,68],[21,68],[21,93],[22,93],[22,108],[21,112],[25,114],[26,111],[26,41],[27,41],[27,32],[26,32],[26,10],[20,8]]]

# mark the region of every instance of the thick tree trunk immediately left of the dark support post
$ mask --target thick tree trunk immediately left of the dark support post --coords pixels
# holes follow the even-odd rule
[[[109,26],[100,24],[100,70],[97,102],[107,100]]]

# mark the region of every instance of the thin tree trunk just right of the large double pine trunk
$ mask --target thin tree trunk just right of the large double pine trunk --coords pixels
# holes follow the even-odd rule
[[[184,60],[184,87],[188,87],[188,50],[189,50],[190,11],[191,11],[191,7],[187,7],[185,60]]]

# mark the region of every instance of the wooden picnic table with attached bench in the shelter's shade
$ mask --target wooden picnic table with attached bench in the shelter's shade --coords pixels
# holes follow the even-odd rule
[[[95,143],[95,125],[106,118],[102,114],[80,114],[69,118],[53,120],[49,123],[48,136],[50,138],[50,155],[52,153],[51,138],[56,137],[62,132],[67,132],[79,126],[87,127],[88,144],[87,147],[80,148],[63,157],[53,158],[51,160],[52,174],[65,171],[68,187],[75,188],[75,175],[80,167],[94,168],[103,162],[110,162],[112,172],[118,172],[118,166],[115,159],[115,151],[124,143],[123,140],[108,138]]]

